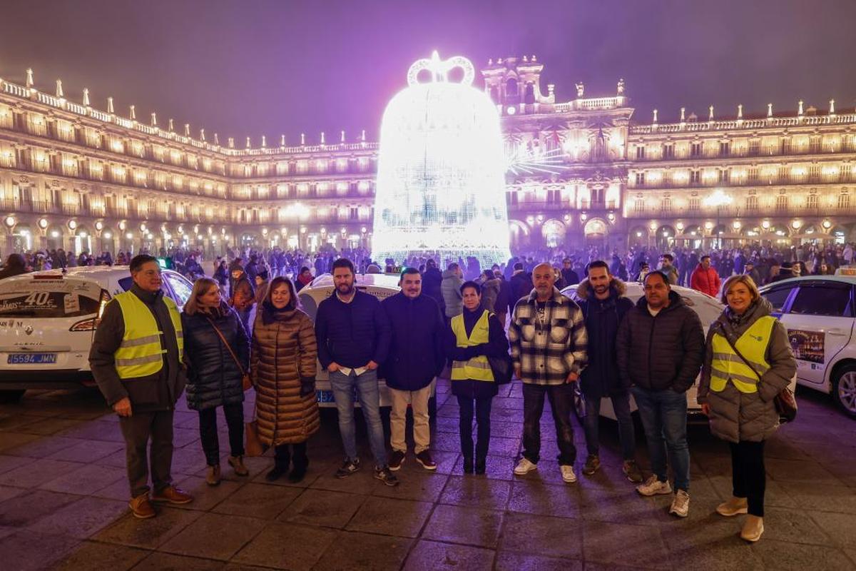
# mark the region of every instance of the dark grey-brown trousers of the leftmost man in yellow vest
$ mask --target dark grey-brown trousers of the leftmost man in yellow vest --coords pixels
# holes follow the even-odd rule
[[[149,465],[152,467],[152,485],[156,492],[172,485],[172,417],[173,411],[137,413],[119,417],[119,428],[125,438],[125,466],[131,497],[147,493]],[[148,455],[149,439],[151,456]]]

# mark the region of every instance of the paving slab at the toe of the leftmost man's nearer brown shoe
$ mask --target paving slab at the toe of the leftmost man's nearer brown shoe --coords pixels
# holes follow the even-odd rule
[[[192,509],[155,509],[158,511],[158,515],[148,520],[138,520],[128,512],[122,519],[92,539],[153,550],[181,532],[203,514],[203,512]]]

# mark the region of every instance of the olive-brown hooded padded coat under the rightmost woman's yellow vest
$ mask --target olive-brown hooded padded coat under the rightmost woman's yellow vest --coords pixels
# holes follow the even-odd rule
[[[726,307],[710,326],[704,351],[704,366],[698,384],[698,402],[710,405],[710,432],[728,442],[759,442],[769,438],[779,426],[779,413],[773,399],[788,386],[797,371],[797,362],[788,341],[788,330],[776,320],[764,360],[770,369],[758,381],[757,393],[743,393],[733,383],[720,392],[710,390],[710,367],[713,361],[713,336],[718,332],[737,342],[759,318],[770,315],[772,306],[763,297],[738,317]]]

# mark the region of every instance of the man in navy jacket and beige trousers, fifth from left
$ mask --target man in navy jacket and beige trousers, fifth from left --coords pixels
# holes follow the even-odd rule
[[[383,378],[392,397],[389,412],[389,444],[392,456],[389,469],[401,468],[407,454],[405,426],[407,405],[413,410],[413,443],[416,461],[426,470],[436,470],[431,458],[431,426],[428,401],[434,378],[443,371],[443,334],[445,322],[437,301],[422,294],[422,276],[416,268],[401,272],[401,291],[381,302],[389,318],[392,340],[389,356],[382,366]]]

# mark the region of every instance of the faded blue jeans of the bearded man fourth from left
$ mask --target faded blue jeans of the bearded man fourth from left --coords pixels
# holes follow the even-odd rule
[[[369,446],[377,467],[386,467],[386,448],[383,443],[383,422],[380,419],[380,390],[377,388],[377,371],[366,371],[359,377],[355,371],[350,376],[341,371],[330,373],[330,387],[336,399],[339,413],[339,432],[348,460],[357,458],[357,432],[354,425],[354,387],[356,387],[360,407],[366,418],[369,433]]]

